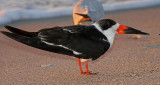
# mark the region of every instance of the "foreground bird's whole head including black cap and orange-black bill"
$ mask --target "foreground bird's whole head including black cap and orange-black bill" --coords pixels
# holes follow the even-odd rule
[[[96,25],[97,24],[97,25]],[[102,31],[108,31],[108,32],[112,32],[114,31],[113,34],[115,34],[115,32],[117,32],[118,34],[142,34],[142,35],[149,35],[149,33],[145,33],[142,32],[140,30],[137,30],[133,27],[128,27],[128,26],[124,26],[124,25],[120,25],[119,23],[117,23],[116,21],[112,20],[112,19],[102,19],[97,21],[95,24],[95,26],[98,26],[98,28],[100,27],[100,29]]]

